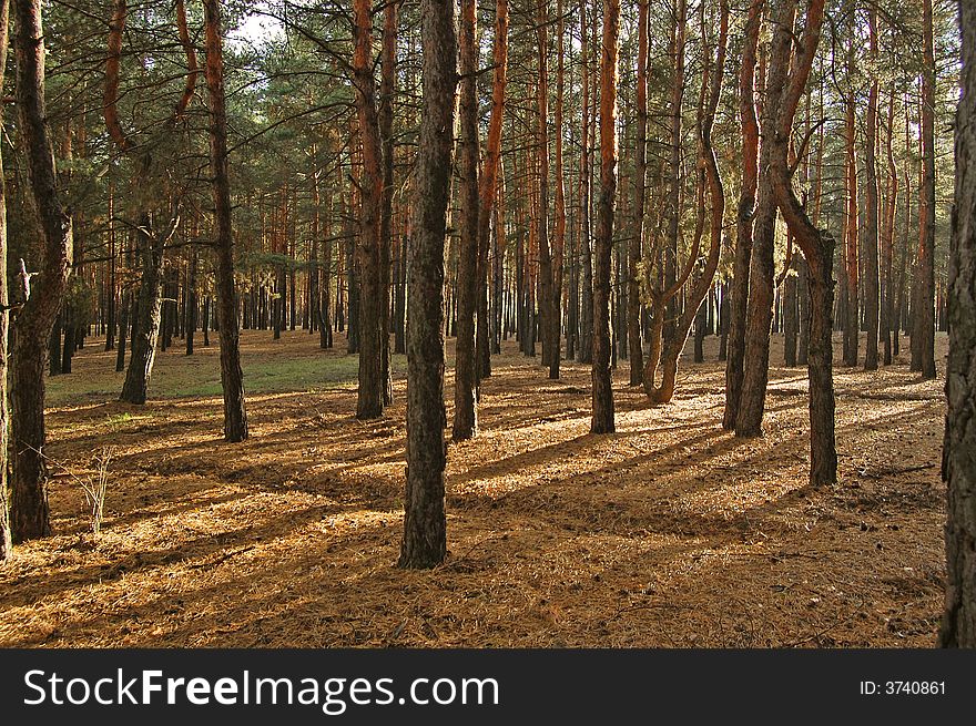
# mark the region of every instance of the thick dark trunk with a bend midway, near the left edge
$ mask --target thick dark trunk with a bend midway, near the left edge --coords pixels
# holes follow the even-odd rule
[[[13,542],[51,531],[44,467],[44,351],[71,272],[71,215],[61,206],[54,151],[47,127],[44,32],[40,0],[14,1],[17,109],[30,194],[40,222],[43,263],[29,299],[17,316],[11,349]],[[24,276],[27,270],[22,270]]]

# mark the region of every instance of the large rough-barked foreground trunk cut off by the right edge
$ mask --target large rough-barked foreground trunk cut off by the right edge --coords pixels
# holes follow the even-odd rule
[[[938,643],[976,647],[976,7],[959,3],[963,94],[949,242],[949,356],[942,476],[947,484],[946,597]]]

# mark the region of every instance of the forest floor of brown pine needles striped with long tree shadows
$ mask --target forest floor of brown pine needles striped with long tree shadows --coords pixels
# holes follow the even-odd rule
[[[0,569],[0,645],[935,643],[944,382],[908,371],[907,341],[888,369],[836,370],[840,482],[822,489],[806,481],[805,370],[779,365],[780,337],[766,436],[753,440],[721,428],[713,338],[668,406],[628,388],[621,361],[618,432],[600,437],[589,367],[565,362],[550,381],[508,342],[482,387],[479,436],[450,446],[450,554],[425,572],[395,567],[401,357],[397,402],[358,422],[344,339],[322,351],[317,336],[245,333],[251,438],[228,444],[216,346],[160,354],[155,398],[132,407],[114,400],[122,374],[99,342],[49,381],[54,535]],[[945,345],[939,335],[941,375]],[[106,447],[93,535],[77,478],[94,476]]]

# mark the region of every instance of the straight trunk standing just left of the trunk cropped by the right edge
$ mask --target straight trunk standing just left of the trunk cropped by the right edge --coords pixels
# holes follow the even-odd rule
[[[913,370],[935,378],[935,51],[932,0],[922,3],[922,185],[918,216],[918,265],[915,268],[916,307],[912,317]]]

